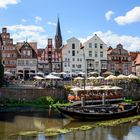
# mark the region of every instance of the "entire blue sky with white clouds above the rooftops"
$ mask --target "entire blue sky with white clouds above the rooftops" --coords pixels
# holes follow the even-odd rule
[[[71,37],[84,43],[96,33],[107,46],[140,51],[140,0],[0,0],[0,28],[7,27],[14,43],[45,48],[58,17],[64,44]]]

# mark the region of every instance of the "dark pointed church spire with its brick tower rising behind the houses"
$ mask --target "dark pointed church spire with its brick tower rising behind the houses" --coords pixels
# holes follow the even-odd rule
[[[61,46],[62,46],[62,36],[61,36],[61,28],[60,28],[60,22],[58,17],[56,35],[55,35],[55,48],[59,49]]]

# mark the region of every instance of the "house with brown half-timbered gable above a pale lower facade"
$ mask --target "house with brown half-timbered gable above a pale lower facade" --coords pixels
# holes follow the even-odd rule
[[[20,78],[29,79],[37,73],[37,43],[18,42],[17,48],[17,74]]]

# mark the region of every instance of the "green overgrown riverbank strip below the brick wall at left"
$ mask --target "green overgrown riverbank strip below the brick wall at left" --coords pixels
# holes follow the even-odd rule
[[[50,96],[44,96],[34,100],[3,98],[0,99],[0,112],[37,112],[64,105],[70,105],[70,103],[67,100],[52,98]]]

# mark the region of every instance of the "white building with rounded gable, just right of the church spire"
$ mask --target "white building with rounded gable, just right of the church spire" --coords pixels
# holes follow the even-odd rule
[[[62,50],[64,72],[76,74],[79,72],[85,72],[85,61],[83,50],[80,49],[81,46],[82,44],[75,37],[67,40],[67,44]]]

